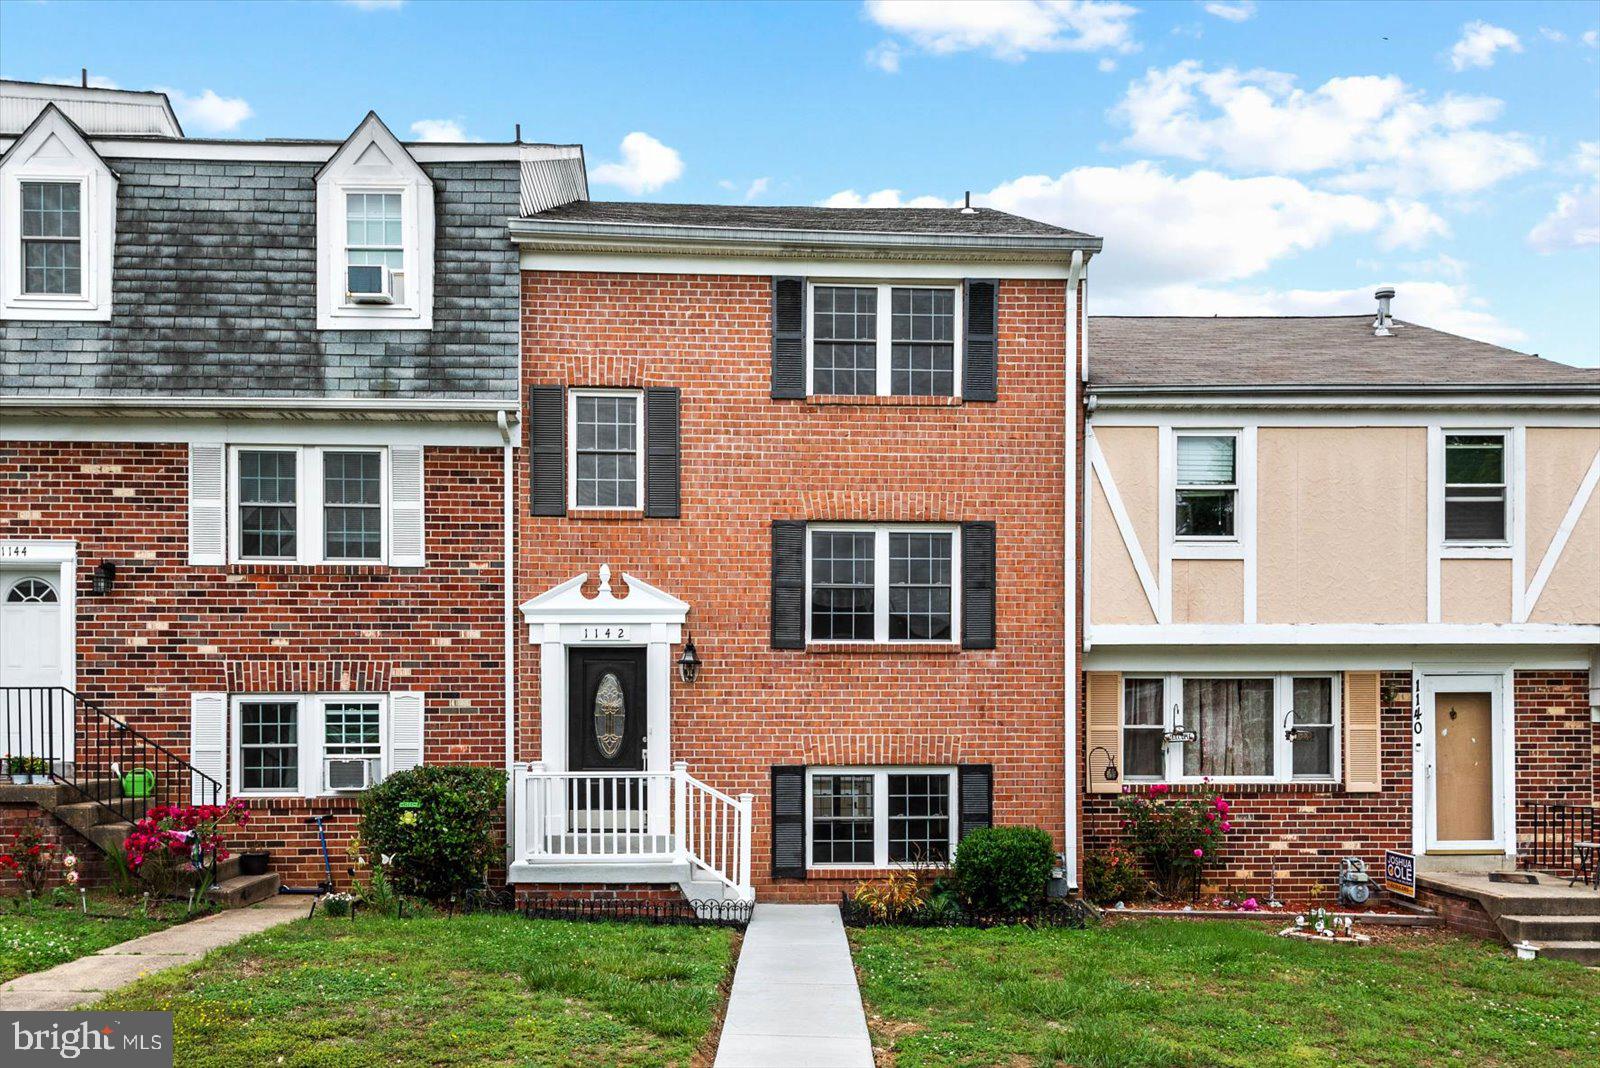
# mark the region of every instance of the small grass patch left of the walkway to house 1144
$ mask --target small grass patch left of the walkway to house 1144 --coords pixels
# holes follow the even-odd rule
[[[29,907],[14,897],[0,899],[0,983],[98,953],[174,921],[158,908],[144,918],[138,905],[96,894],[90,895],[90,911],[96,915],[85,916],[77,907]]]

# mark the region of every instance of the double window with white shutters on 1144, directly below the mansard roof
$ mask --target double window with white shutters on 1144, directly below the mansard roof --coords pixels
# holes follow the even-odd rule
[[[234,560],[384,560],[384,449],[240,446],[232,456]]]

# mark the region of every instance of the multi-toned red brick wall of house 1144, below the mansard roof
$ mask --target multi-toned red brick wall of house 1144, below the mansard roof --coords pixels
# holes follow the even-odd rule
[[[286,430],[286,443],[294,443]],[[427,448],[427,566],[187,563],[187,446],[0,444],[0,539],[77,540],[77,691],[181,756],[194,692],[426,692],[429,763],[504,764],[502,452]],[[109,596],[90,571],[115,561]],[[350,798],[251,803],[285,883],[349,867]]]

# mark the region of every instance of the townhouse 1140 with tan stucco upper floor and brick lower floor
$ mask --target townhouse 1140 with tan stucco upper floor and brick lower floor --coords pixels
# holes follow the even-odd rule
[[[1232,801],[1219,892],[1331,900],[1390,849],[1571,863],[1552,819],[1600,799],[1600,373],[1394,296],[1091,318],[1086,849],[1160,782]]]

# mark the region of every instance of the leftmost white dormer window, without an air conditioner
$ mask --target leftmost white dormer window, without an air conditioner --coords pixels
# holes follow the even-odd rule
[[[117,176],[53,106],[0,158],[0,320],[110,318]]]

